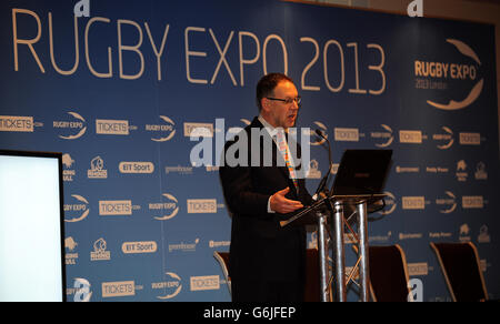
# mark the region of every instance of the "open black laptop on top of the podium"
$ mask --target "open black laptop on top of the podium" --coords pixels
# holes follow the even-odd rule
[[[347,150],[330,194],[381,194],[391,158],[392,150]]]

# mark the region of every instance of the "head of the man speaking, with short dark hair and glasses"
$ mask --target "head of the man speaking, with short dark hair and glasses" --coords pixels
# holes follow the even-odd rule
[[[257,84],[257,105],[272,126],[294,126],[300,98],[293,81],[281,73],[264,75]]]

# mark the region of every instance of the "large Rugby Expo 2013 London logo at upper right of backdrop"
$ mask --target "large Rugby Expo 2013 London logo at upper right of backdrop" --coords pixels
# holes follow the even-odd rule
[[[469,63],[457,62],[436,62],[436,61],[414,61],[414,77],[417,78],[417,89],[432,89],[446,91],[446,95],[450,95],[451,92],[447,90],[454,90],[459,98],[448,98],[441,100],[427,100],[427,103],[436,109],[444,111],[461,110],[470,107],[481,95],[484,85],[484,79],[479,79],[479,69],[481,68],[481,60],[474,50],[467,43],[456,40],[447,39],[447,45],[453,47],[456,51],[462,54],[462,60],[466,59]],[[470,62],[471,61],[471,62]],[[454,81],[451,83],[451,81]],[[468,90],[468,94],[464,97],[461,91],[457,91],[457,81],[471,82],[473,87]],[[464,87],[463,83],[460,88]],[[460,94],[457,94],[459,92]],[[464,98],[461,101],[456,101]]]

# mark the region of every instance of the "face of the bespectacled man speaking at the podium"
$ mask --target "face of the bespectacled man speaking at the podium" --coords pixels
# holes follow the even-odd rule
[[[274,89],[273,99],[296,99],[299,95],[296,85],[290,81],[281,81]],[[299,113],[298,103],[292,100],[291,103],[286,103],[279,100],[263,99],[266,104],[263,109],[269,117],[268,122],[274,128],[293,128],[296,125]]]

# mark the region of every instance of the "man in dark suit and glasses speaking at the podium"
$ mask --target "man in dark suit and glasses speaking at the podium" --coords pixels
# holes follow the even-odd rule
[[[306,230],[279,224],[311,203],[303,175],[297,171],[300,146],[290,150],[292,139],[287,133],[296,124],[300,97],[290,78],[272,73],[259,81],[257,104],[259,117],[228,141],[226,165],[220,168],[223,194],[232,214],[232,301],[301,302]],[[284,138],[279,138],[280,130],[284,130]],[[267,161],[269,153],[272,161]],[[238,165],[231,163],[231,158],[238,160]]]

